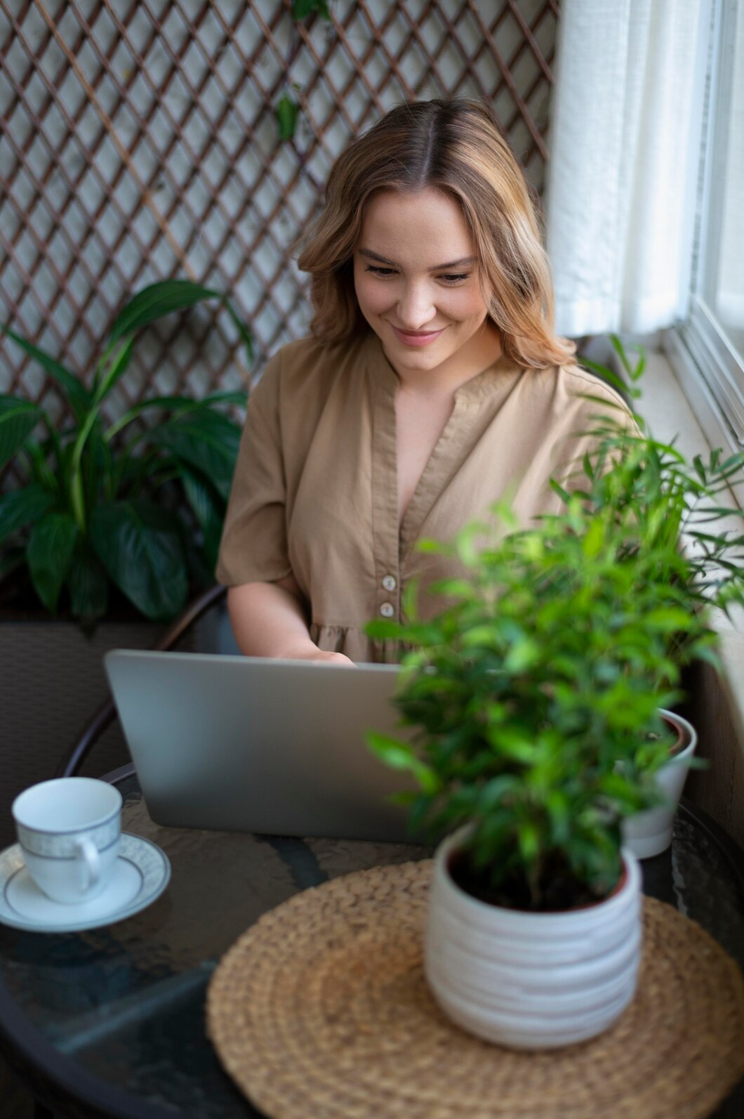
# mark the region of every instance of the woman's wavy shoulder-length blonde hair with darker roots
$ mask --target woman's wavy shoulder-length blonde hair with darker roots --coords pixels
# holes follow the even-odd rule
[[[365,206],[380,190],[426,187],[462,208],[505,355],[534,368],[573,361],[576,347],[555,335],[553,282],[524,172],[479,101],[398,105],[336,160],[326,205],[298,257],[312,275],[312,333],[338,342],[367,329],[352,260]]]

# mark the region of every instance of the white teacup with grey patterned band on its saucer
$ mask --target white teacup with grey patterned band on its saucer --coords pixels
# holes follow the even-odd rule
[[[12,814],[28,873],[48,897],[76,904],[103,891],[119,854],[119,789],[91,777],[41,781],[16,797]]]

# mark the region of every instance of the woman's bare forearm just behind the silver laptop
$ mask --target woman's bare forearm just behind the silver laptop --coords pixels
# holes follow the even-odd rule
[[[227,609],[235,640],[247,657],[354,665],[342,652],[323,652],[311,640],[302,593],[294,575],[275,583],[230,586]]]

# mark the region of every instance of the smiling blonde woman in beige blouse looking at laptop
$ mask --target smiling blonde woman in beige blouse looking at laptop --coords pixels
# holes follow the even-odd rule
[[[507,488],[522,523],[555,509],[550,476],[590,446],[581,394],[620,398],[553,332],[527,185],[484,104],[401,105],[354,141],[299,266],[312,337],[251,397],[217,577],[247,655],[395,660],[365,623],[454,570],[416,542]]]

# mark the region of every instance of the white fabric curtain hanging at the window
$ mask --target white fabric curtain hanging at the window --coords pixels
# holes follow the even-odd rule
[[[706,0],[563,0],[547,250],[568,337],[686,311],[708,43]]]

